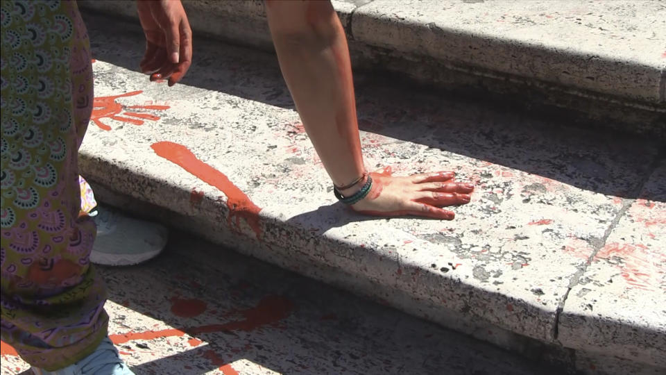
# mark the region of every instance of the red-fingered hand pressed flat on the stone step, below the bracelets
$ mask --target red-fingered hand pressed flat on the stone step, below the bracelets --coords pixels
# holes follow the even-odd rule
[[[391,167],[370,173],[373,186],[352,209],[373,216],[420,216],[452,220],[455,214],[443,206],[470,203],[474,185],[453,180],[454,172],[391,176]]]

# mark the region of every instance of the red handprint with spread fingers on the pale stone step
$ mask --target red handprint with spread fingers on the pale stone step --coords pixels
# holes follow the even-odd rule
[[[99,97],[95,98],[94,103],[93,103],[93,108],[92,108],[92,116],[90,117],[90,120],[95,123],[95,125],[99,126],[102,130],[105,131],[110,131],[111,127],[104,124],[101,122],[101,119],[103,118],[110,118],[114,119],[117,121],[121,122],[129,122],[130,124],[135,124],[135,125],[142,125],[144,124],[143,120],[141,119],[149,119],[153,121],[157,121],[160,119],[160,117],[157,117],[155,115],[150,115],[148,113],[136,113],[136,112],[125,112],[123,115],[125,116],[131,116],[131,117],[137,117],[135,119],[131,117],[122,117],[119,116],[120,113],[126,109],[126,108],[131,108],[131,109],[145,109],[145,110],[167,110],[169,109],[169,106],[123,106],[121,103],[117,103],[116,99],[121,98],[121,97],[133,97],[135,95],[141,94],[142,91],[133,91],[133,92],[128,92],[126,94],[120,94],[120,95],[114,95],[112,97]]]

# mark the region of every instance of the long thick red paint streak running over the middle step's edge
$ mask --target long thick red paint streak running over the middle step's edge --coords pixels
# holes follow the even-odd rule
[[[227,196],[227,206],[230,210],[228,225],[231,228],[234,227],[233,220],[235,217],[235,228],[240,230],[240,219],[244,218],[257,235],[257,239],[261,239],[262,226],[259,223],[259,211],[262,209],[250,201],[250,198],[229,181],[227,176],[203,163],[182,144],[157,142],[151,147],[158,156],[180,165],[187,172],[200,178],[201,181],[221,190]]]

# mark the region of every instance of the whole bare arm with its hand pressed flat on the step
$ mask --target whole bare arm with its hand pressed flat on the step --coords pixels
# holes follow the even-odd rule
[[[266,0],[266,12],[282,75],[305,131],[334,185],[344,197],[352,196],[366,185],[367,176],[340,20],[330,1]],[[370,192],[352,205],[368,215],[453,219],[454,213],[441,207],[468,203],[474,190],[453,182],[452,172],[393,177],[384,169],[369,176]]]

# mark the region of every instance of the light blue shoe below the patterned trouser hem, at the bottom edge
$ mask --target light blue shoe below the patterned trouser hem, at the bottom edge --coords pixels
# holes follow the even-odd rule
[[[109,338],[102,340],[99,347],[89,356],[74,365],[58,371],[35,369],[37,375],[135,375],[118,356],[118,350]]]

